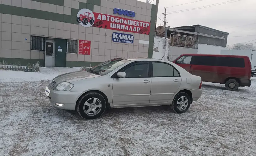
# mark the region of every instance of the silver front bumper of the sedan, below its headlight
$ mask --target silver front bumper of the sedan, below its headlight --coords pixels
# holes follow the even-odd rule
[[[76,101],[82,93],[71,91],[50,90],[49,99],[52,106],[60,109],[76,110]],[[58,106],[56,103],[63,104]]]

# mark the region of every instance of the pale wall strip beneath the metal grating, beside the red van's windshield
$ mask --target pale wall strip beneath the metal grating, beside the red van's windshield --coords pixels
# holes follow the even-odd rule
[[[170,47],[169,59],[173,61],[181,54],[197,54],[197,50],[198,49],[192,48]]]

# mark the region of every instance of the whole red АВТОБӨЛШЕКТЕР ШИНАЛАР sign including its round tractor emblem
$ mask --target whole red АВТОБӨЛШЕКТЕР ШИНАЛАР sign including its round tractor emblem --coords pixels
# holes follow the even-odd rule
[[[150,23],[81,9],[76,21],[84,27],[98,27],[149,35]]]

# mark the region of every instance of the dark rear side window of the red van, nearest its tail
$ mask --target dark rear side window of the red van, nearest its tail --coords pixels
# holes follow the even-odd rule
[[[244,58],[237,57],[219,57],[218,66],[228,66],[228,67],[240,67],[244,68]]]

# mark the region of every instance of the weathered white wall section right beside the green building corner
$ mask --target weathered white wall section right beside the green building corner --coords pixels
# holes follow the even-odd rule
[[[167,61],[169,47],[170,47],[170,39],[155,36],[152,58],[162,59],[162,57],[164,56],[164,58],[162,60]]]

